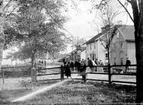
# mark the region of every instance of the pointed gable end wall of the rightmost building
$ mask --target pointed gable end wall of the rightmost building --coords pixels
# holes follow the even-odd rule
[[[121,32],[117,32],[111,42],[110,63],[113,65],[123,65],[126,63],[127,42]]]

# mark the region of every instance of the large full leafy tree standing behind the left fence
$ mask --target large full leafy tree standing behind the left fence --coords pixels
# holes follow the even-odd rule
[[[61,28],[64,23],[63,17],[53,15],[46,20],[45,16],[47,14],[43,11],[47,8],[44,8],[43,11],[39,9],[39,2],[35,4],[35,2],[27,0],[27,2],[20,1],[19,3],[21,7],[17,13],[15,30],[18,30],[20,34],[16,35],[15,40],[22,45],[20,51],[17,52],[22,54],[19,54],[20,56],[17,57],[28,57],[26,52],[29,52],[32,54],[28,55],[33,65],[37,51],[49,52],[51,54],[61,51],[62,47],[64,47],[64,41],[62,40],[64,34],[58,28]],[[37,6],[38,8],[35,8]]]

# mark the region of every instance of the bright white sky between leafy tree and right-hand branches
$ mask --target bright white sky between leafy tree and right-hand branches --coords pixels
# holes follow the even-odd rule
[[[101,21],[99,19],[99,10],[92,9],[92,1],[99,4],[100,0],[67,0],[68,11],[65,12],[65,16],[69,20],[65,24],[66,30],[70,35],[78,38],[84,38],[89,40],[101,31]],[[122,0],[124,3],[124,0]],[[116,0],[112,1],[112,6],[116,10],[124,9],[118,5]],[[131,13],[131,7],[128,5],[128,10]],[[115,21],[121,20],[122,24],[133,24],[126,12],[122,12],[118,15]],[[71,46],[68,45],[66,52],[70,52]]]

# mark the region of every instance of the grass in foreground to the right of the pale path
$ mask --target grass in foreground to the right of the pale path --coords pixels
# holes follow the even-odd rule
[[[135,103],[135,92],[135,87],[133,86],[70,81],[44,94],[37,95],[32,100],[13,103],[12,105]]]

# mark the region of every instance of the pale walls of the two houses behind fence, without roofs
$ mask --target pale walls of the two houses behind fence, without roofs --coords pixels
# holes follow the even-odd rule
[[[102,60],[103,63],[107,62],[107,50],[104,48],[100,39],[106,38],[106,35],[100,36],[95,42],[87,44],[86,47],[86,58],[92,57],[94,59]],[[117,30],[116,35],[113,37],[110,44],[110,64],[114,65],[125,65],[127,58],[131,61],[131,64],[136,64],[135,57],[135,42],[128,42],[120,30]]]

